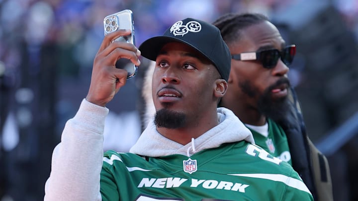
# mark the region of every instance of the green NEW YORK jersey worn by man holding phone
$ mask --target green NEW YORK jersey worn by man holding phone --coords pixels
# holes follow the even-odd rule
[[[292,167],[246,141],[190,157],[104,153],[103,201],[307,201],[309,190]]]

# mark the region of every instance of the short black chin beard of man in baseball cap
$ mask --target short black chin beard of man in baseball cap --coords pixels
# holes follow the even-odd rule
[[[170,111],[168,109],[158,110],[154,118],[154,124],[157,127],[163,127],[167,129],[182,128],[184,127],[185,123],[185,114]]]

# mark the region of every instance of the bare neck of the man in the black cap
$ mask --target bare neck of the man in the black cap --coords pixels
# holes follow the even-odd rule
[[[219,124],[216,110],[210,114],[200,115],[200,117],[202,118],[198,120],[188,120],[188,123],[182,128],[157,127],[157,131],[168,139],[185,145],[191,141],[191,138],[197,138]]]

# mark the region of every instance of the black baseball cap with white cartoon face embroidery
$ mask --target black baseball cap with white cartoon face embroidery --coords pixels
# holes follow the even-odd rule
[[[198,19],[186,18],[174,23],[163,36],[144,41],[139,50],[143,57],[156,61],[163,46],[170,42],[181,42],[199,51],[214,64],[221,77],[228,81],[231,67],[230,50],[216,26]]]

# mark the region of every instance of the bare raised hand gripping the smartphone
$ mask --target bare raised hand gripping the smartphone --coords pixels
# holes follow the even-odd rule
[[[94,58],[87,101],[104,107],[126,83],[127,71],[115,67],[117,60],[125,58],[140,65],[140,51],[133,44],[114,41],[130,33],[130,30],[118,30],[104,37]]]

